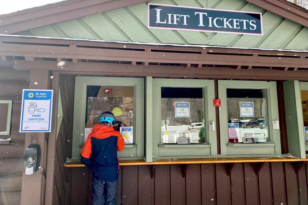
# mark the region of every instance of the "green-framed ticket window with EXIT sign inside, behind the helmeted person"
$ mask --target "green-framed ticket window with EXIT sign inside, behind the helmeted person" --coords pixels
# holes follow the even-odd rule
[[[144,158],[144,78],[75,78],[72,158],[78,158],[93,125],[109,111],[117,121],[125,147],[119,159]],[[139,158],[138,158],[139,157]]]

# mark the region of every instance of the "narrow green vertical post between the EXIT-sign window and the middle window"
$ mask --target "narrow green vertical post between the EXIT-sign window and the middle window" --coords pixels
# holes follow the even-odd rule
[[[152,123],[153,123],[153,93],[152,77],[145,78],[145,161],[152,162]]]

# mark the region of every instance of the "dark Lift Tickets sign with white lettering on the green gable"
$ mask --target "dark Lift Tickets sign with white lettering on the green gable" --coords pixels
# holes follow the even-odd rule
[[[263,35],[261,13],[150,3],[148,28]]]

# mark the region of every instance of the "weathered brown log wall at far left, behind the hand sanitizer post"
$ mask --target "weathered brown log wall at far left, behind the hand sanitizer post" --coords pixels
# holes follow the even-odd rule
[[[22,89],[29,89],[29,79],[30,72],[0,67],[0,100],[13,101],[10,135],[0,135],[11,138],[11,144],[0,145],[0,205],[20,204],[26,136],[19,133],[20,110]]]

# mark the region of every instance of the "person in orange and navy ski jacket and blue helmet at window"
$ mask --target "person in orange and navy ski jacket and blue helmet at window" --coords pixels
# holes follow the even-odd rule
[[[104,113],[107,115],[102,117]],[[95,124],[87,137],[81,150],[81,161],[93,172],[92,203],[116,204],[119,173],[117,151],[123,150],[124,139],[112,127],[115,122],[112,113],[104,113],[100,117],[101,124]]]

